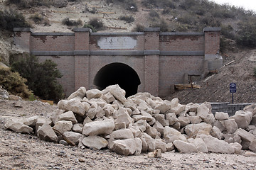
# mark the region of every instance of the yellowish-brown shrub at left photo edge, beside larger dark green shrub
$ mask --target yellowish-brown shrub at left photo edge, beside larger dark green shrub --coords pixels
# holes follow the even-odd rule
[[[18,72],[11,72],[11,69],[0,66],[0,85],[10,94],[22,98],[31,96],[32,92],[28,90],[28,86],[25,84],[26,81]]]

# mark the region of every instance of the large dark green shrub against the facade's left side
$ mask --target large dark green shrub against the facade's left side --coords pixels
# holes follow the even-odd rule
[[[39,63],[37,57],[28,55],[11,64],[11,69],[28,80],[29,89],[39,98],[55,103],[63,98],[63,88],[57,81],[62,75],[57,69],[57,64],[51,60]]]

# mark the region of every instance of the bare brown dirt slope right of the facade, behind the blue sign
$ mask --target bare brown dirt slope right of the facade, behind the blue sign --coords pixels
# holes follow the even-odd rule
[[[225,55],[228,55],[226,57]],[[255,103],[256,101],[256,50],[242,50],[236,53],[223,54],[223,67],[218,69],[218,74],[209,75],[206,79],[198,81],[201,89],[186,89],[177,91],[169,98],[178,97],[181,103],[230,102],[229,85],[234,82],[237,85],[237,93],[234,94],[234,103]],[[225,66],[229,62],[232,64]]]

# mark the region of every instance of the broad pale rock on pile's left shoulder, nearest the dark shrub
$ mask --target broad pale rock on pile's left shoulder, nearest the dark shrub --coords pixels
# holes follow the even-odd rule
[[[79,98],[72,98],[69,101],[61,100],[58,102],[58,108],[64,111],[73,111],[80,116],[85,115],[85,106]]]

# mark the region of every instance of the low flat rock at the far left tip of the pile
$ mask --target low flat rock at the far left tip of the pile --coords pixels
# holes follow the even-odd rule
[[[14,120],[7,121],[5,124],[5,127],[7,129],[13,130],[14,132],[20,132],[20,133],[33,132],[33,128],[31,128],[28,125],[25,125],[21,122],[14,121]]]

